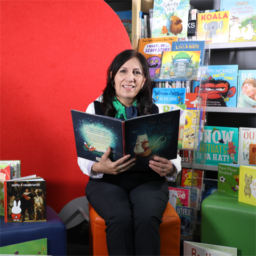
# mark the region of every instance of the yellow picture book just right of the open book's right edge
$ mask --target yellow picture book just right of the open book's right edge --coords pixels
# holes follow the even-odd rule
[[[195,132],[196,132],[196,109],[187,109],[185,117],[183,149],[194,149]]]

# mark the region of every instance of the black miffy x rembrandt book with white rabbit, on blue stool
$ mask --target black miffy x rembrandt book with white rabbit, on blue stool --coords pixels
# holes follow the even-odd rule
[[[46,221],[46,181],[36,175],[4,183],[4,221]]]

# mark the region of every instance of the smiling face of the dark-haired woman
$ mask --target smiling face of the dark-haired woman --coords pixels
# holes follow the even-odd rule
[[[137,58],[132,58],[119,68],[115,75],[116,98],[126,107],[133,105],[136,95],[143,86],[146,78]]]

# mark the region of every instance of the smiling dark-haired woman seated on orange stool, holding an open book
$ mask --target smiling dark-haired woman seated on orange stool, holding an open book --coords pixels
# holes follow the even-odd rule
[[[147,59],[139,52],[119,53],[108,68],[103,94],[86,112],[129,119],[158,113],[151,97]],[[85,194],[105,220],[109,255],[160,255],[159,225],[169,200],[165,177],[173,180],[181,159],[155,157],[148,172],[131,171],[135,159],[126,155],[109,159],[108,147],[99,162],[78,157],[81,170],[90,175]],[[135,169],[136,165],[133,167]]]

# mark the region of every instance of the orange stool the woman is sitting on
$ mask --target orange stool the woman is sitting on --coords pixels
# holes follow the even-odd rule
[[[89,255],[108,255],[106,225],[93,207],[89,204]],[[170,203],[163,214],[159,232],[161,237],[161,256],[180,255],[180,217]]]

